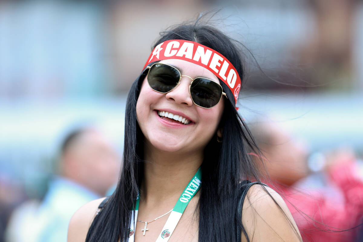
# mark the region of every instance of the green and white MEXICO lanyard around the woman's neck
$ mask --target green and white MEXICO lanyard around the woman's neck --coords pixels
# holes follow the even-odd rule
[[[168,220],[166,221],[162,231],[160,232],[158,239],[156,239],[156,242],[161,242],[161,241],[167,242],[169,240],[170,235],[173,233],[189,201],[192,199],[192,197],[194,197],[195,193],[197,193],[197,191],[199,190],[201,178],[202,178],[202,173],[201,173],[201,168],[199,167],[197,173],[195,173],[195,175],[192,177],[192,180],[190,180],[189,184],[185,187],[184,192],[181,193],[178,201],[174,206],[174,209],[171,211]],[[136,228],[137,214],[139,210],[139,202],[140,202],[140,196],[138,196],[136,200],[135,210],[132,210],[131,212],[130,225],[133,225],[134,227],[130,228],[129,242],[134,242],[135,239],[135,228]],[[134,220],[134,215],[135,215],[135,220]],[[144,233],[147,231],[146,225],[143,231]]]

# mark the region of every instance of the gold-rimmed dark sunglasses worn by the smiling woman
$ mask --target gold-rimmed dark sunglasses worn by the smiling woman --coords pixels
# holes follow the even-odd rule
[[[147,83],[152,90],[158,93],[170,92],[179,85],[181,77],[189,77],[181,75],[180,71],[174,66],[163,63],[154,63],[151,66],[147,66],[146,69],[148,69]],[[191,77],[189,78],[192,79]],[[193,103],[203,108],[216,106],[221,100],[222,95],[227,97],[219,83],[204,77],[192,79],[189,85],[189,94],[192,97]]]

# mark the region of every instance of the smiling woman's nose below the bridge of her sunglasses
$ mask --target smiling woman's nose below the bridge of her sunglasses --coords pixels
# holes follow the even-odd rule
[[[190,79],[190,80],[189,80]],[[189,85],[192,78],[187,75],[182,75],[180,83],[175,89],[168,92],[165,97],[170,101],[175,101],[178,104],[184,104],[188,107],[193,105],[192,98],[189,94]]]

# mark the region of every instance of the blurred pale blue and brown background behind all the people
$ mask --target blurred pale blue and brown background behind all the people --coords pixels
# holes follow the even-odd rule
[[[211,9],[246,47],[247,122],[303,140],[310,172],[346,147],[363,177],[363,1],[0,1],[0,241],[13,209],[46,196],[75,127],[121,156],[127,91],[159,32]]]

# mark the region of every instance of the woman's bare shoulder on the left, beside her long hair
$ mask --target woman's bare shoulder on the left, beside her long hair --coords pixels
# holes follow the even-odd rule
[[[73,214],[68,226],[68,242],[85,241],[88,229],[97,214],[99,204],[105,198],[88,202]]]

